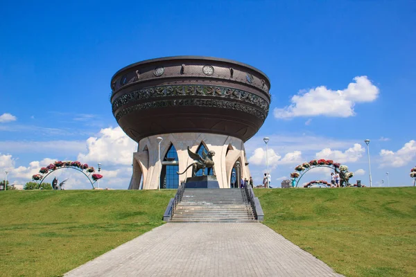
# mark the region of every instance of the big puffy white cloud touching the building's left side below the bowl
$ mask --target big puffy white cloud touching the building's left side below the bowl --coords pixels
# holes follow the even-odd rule
[[[87,139],[87,150],[87,154],[78,154],[78,160],[84,163],[131,166],[132,153],[137,150],[137,143],[130,139],[121,127],[109,127],[101,129],[98,137]]]

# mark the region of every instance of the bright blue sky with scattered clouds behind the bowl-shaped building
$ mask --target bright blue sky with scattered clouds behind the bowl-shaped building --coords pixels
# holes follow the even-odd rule
[[[367,180],[364,139],[371,140],[373,185],[382,185],[385,172],[390,185],[413,184],[414,1],[39,2],[2,3],[1,179],[8,170],[10,181],[24,184],[49,159],[83,158],[103,163],[103,184],[127,188],[135,145],[116,129],[110,78],[141,60],[205,55],[245,62],[270,78],[270,114],[246,143],[257,183],[266,168],[257,149],[269,136],[274,184],[316,153]],[[362,76],[358,96],[331,105],[336,91]],[[112,140],[122,158],[119,150],[103,154]],[[308,175],[305,181],[327,179],[327,172]],[[87,188],[82,177],[69,177],[69,188]]]

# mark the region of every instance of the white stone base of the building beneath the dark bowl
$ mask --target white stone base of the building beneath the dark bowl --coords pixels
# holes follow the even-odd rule
[[[163,139],[162,143],[160,143],[160,161],[159,144],[156,139],[158,136]],[[239,176],[243,179],[250,178],[244,143],[241,139],[233,136],[206,133],[161,134],[148,136],[139,141],[137,152],[133,153],[133,174],[128,189],[155,190],[159,187],[162,161],[171,144],[173,144],[177,152],[179,172],[184,172],[193,163],[193,160],[188,155],[187,147],[189,146],[192,152],[197,152],[201,143],[205,145],[207,150],[215,152],[213,158],[215,163],[214,170],[220,188],[230,188],[232,168],[236,168],[236,161],[240,162]],[[177,175],[179,184],[191,176],[192,167],[183,175]]]

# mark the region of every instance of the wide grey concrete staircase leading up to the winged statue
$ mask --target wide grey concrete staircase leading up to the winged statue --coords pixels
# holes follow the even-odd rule
[[[241,188],[185,188],[171,222],[256,222]]]

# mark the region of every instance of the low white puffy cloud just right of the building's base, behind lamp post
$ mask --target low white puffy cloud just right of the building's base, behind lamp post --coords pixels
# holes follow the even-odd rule
[[[248,161],[257,166],[266,165],[266,151],[263,148],[257,148]],[[271,168],[276,168],[277,165],[281,164],[297,164],[301,161],[302,152],[300,151],[286,153],[282,159],[281,155],[276,153],[275,150],[268,150],[268,164]]]

